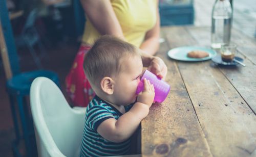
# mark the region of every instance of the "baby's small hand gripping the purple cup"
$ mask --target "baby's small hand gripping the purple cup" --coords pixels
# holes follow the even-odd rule
[[[137,101],[151,107],[155,97],[155,88],[149,80],[144,79],[144,90],[139,93]]]

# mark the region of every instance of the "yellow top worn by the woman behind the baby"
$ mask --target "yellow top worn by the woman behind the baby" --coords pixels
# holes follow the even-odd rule
[[[156,24],[157,1],[111,0],[111,4],[126,41],[139,47],[144,40],[146,32]],[[92,45],[100,34],[88,18],[84,29],[82,41]]]

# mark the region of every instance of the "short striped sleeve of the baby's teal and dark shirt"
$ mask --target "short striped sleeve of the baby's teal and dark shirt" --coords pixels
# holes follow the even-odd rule
[[[114,118],[108,109],[102,106],[94,106],[87,112],[87,120],[91,129],[97,132],[98,126],[106,119]]]

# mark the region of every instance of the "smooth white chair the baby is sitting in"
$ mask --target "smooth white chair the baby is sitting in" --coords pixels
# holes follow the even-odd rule
[[[60,89],[37,77],[30,89],[39,156],[79,156],[86,108],[72,109]]]

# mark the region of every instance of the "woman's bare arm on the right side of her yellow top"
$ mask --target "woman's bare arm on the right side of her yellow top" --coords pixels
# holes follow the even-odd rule
[[[158,4],[158,1],[157,1]],[[157,21],[155,26],[146,33],[144,42],[140,45],[140,49],[145,51],[147,54],[155,55],[159,48],[159,35],[160,35],[160,17],[158,6],[156,8]]]

